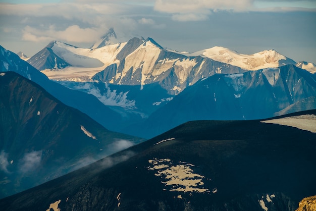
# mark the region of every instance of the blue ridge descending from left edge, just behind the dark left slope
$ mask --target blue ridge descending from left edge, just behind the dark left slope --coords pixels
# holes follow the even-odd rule
[[[66,105],[87,114],[102,126],[114,130],[121,125],[122,115],[113,111],[92,94],[76,91],[49,80],[33,66],[21,60],[19,56],[0,46],[0,71],[14,71],[39,84],[48,93],[61,100]]]

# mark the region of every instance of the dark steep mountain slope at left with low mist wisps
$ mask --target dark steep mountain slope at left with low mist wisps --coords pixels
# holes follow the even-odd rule
[[[142,139],[112,132],[15,72],[0,73],[0,197]]]

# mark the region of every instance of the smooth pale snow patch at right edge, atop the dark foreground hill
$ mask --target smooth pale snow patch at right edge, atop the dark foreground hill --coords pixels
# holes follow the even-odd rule
[[[265,120],[262,123],[272,123],[279,125],[286,125],[301,130],[307,130],[316,133],[316,116],[315,115],[300,115],[294,117],[285,117],[281,119]]]

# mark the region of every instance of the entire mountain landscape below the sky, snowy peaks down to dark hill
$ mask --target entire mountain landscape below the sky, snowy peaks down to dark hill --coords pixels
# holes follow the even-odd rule
[[[0,198],[23,191],[5,210],[294,210],[316,195],[312,63],[113,29],[90,48],[0,51]]]

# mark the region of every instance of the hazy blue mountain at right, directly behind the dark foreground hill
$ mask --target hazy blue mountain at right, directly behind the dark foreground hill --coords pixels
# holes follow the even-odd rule
[[[150,137],[191,120],[253,120],[316,109],[315,98],[316,76],[294,65],[216,74],[152,113],[140,132]]]

